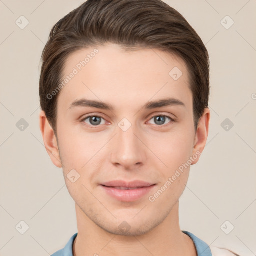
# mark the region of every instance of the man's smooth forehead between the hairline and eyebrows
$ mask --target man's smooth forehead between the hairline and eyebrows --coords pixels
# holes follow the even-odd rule
[[[163,96],[191,101],[186,64],[158,49],[84,48],[69,55],[62,74],[58,101],[65,108],[82,97],[126,106]]]

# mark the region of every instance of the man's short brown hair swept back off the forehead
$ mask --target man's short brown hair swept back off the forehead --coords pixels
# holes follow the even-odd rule
[[[197,128],[209,99],[209,56],[185,18],[161,0],[87,0],[51,29],[42,52],[41,109],[56,132],[57,93],[66,58],[76,50],[105,42],[126,49],[156,48],[181,57],[188,68]]]

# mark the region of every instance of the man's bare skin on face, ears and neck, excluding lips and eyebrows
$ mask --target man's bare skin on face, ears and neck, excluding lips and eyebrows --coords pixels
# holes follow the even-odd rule
[[[68,75],[94,47],[71,54],[63,69]],[[81,255],[189,255],[192,240],[179,227],[179,198],[190,166],[157,198],[153,195],[196,152],[202,152],[208,136],[210,111],[205,108],[194,129],[192,93],[184,61],[158,49],[124,51],[119,45],[98,46],[99,52],[60,91],[56,135],[43,111],[40,129],[45,148],[57,167],[63,168],[67,189],[75,201],[78,235],[73,253]],[[174,80],[173,67],[182,71]],[[143,109],[148,101],[166,97],[182,105]],[[86,98],[111,104],[113,110],[77,106]],[[97,114],[93,126],[87,114]],[[154,116],[166,115],[162,124]],[[118,123],[126,118],[127,131]],[[199,159],[193,160],[195,164]],[[72,183],[67,174],[75,169],[80,178]],[[156,183],[149,194],[132,202],[107,195],[99,185],[110,180],[144,180]],[[118,226],[126,221],[125,233]],[[96,255],[96,254],[95,254]]]

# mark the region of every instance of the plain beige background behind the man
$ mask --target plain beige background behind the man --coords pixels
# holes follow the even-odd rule
[[[0,0],[0,255],[49,255],[77,232],[62,170],[51,163],[40,134],[38,80],[51,27],[82,2]],[[256,255],[256,1],[166,2],[195,28],[211,61],[209,137],[180,199],[181,229]],[[15,24],[21,15],[29,21],[24,29]],[[226,15],[234,21],[229,29],[222,26],[231,24]],[[16,127],[21,118],[28,123],[23,131]],[[228,131],[221,126],[226,118],[234,124]],[[24,234],[22,222],[15,228],[20,221],[29,226]]]

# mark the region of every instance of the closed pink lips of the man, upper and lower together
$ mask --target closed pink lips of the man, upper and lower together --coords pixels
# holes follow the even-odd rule
[[[146,195],[156,184],[134,180],[126,182],[123,180],[113,180],[100,184],[104,191],[111,197],[124,202],[136,201]],[[121,190],[120,187],[133,188]],[[134,188],[137,187],[137,188]]]

